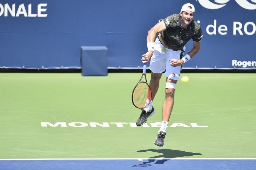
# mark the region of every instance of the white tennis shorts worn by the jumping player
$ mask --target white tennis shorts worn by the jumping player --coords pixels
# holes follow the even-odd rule
[[[185,51],[186,47],[184,46],[183,50]],[[162,73],[168,78],[173,80],[178,80],[180,77],[181,72],[181,65],[177,67],[172,67],[170,65],[171,59],[178,59],[180,60],[180,53],[181,50],[173,51],[169,48],[164,48],[164,46],[159,41],[158,37],[154,43],[154,54],[150,59],[150,66],[149,69],[153,73]]]

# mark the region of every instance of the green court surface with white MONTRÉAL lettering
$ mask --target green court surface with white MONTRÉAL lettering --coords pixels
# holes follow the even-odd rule
[[[256,157],[255,74],[182,73],[189,81],[176,86],[163,148],[154,144],[154,126],[165,77],[148,127],[134,127],[140,110],[131,92],[140,76],[0,73],[0,158]]]

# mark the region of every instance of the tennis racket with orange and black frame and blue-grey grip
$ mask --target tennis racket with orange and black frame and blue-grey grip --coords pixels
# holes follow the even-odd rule
[[[151,89],[148,85],[148,81],[146,78],[146,68],[147,68],[147,65],[144,64],[143,73],[140,78],[140,81],[137,83],[137,85],[134,87],[132,91],[132,104],[139,109],[143,109],[147,107],[151,100]],[[146,82],[141,81],[143,78],[143,75],[145,76]],[[149,100],[148,103],[146,103],[147,99]]]

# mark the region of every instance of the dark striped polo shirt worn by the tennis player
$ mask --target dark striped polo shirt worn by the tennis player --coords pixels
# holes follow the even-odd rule
[[[199,42],[203,37],[200,25],[194,20],[187,28],[182,28],[180,14],[173,14],[161,21],[165,24],[165,30],[160,33],[159,39],[166,48],[174,51],[181,50],[191,38]]]

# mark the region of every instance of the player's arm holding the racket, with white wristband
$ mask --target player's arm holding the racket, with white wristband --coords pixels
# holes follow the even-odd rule
[[[163,21],[158,22],[155,26],[153,26],[149,31],[148,31],[148,36],[147,36],[147,45],[148,46],[154,46],[154,41],[156,39],[156,34],[162,32],[165,30],[165,24]],[[146,54],[142,55],[142,63],[147,63],[150,58],[152,57],[154,51],[150,50],[148,48],[148,52]]]

